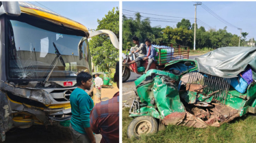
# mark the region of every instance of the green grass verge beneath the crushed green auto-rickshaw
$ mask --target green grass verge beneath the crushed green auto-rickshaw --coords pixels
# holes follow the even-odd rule
[[[133,118],[129,108],[123,110],[123,143],[140,142],[256,142],[256,116],[246,114],[220,127],[196,129],[169,125],[164,131],[142,136],[140,139],[127,138],[127,127]]]

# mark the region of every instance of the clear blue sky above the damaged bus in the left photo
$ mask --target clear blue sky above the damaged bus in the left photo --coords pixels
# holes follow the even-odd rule
[[[102,19],[113,7],[119,7],[118,1],[29,1],[27,3],[33,3],[44,9],[48,7],[61,16],[81,23],[88,29],[97,29],[97,19]]]

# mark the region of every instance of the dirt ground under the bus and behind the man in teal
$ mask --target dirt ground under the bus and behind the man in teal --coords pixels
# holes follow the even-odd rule
[[[118,88],[114,89],[103,88],[101,90],[101,99],[111,99],[114,93],[118,92]],[[94,89],[96,93],[96,89]],[[96,96],[93,97],[94,103],[99,103]],[[47,128],[42,125],[34,125],[27,129],[14,128],[8,131],[6,134],[5,143],[71,143],[71,133],[68,127],[53,127]],[[95,134],[96,142],[101,141],[101,134]],[[1,141],[0,141],[1,142]]]

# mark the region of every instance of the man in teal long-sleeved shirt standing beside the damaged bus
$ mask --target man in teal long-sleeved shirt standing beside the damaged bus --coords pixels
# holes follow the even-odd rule
[[[92,76],[87,72],[77,74],[77,89],[71,93],[71,136],[73,143],[95,142],[90,128],[90,111],[93,108],[92,98],[86,93],[92,86]]]

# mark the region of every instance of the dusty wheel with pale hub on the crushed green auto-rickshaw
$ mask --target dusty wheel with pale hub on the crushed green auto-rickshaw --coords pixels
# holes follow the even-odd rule
[[[138,116],[131,121],[127,128],[127,136],[138,138],[142,134],[156,133],[158,123],[152,116]]]

